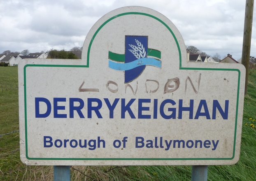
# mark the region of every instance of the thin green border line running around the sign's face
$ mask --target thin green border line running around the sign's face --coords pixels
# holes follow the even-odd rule
[[[233,145],[233,156],[231,158],[30,158],[28,156],[28,130],[27,130],[27,92],[26,92],[26,68],[27,67],[89,67],[89,58],[90,58],[90,50],[91,45],[93,43],[94,38],[98,34],[98,32],[101,30],[103,26],[105,26],[109,21],[112,21],[113,19],[116,19],[120,16],[125,16],[129,14],[139,14],[142,16],[149,16],[153,19],[156,19],[160,23],[162,23],[172,34],[173,38],[175,39],[175,42],[177,44],[177,49],[179,51],[179,69],[180,70],[216,70],[216,71],[237,71],[238,72],[238,83],[237,83],[237,102],[236,102],[236,114],[235,114],[235,135],[234,135],[234,145]],[[26,158],[28,160],[232,160],[235,157],[235,142],[236,142],[236,132],[237,132],[237,114],[238,114],[238,103],[239,103],[239,89],[240,89],[240,70],[238,69],[225,69],[225,68],[193,68],[193,67],[182,67],[182,55],[181,50],[179,47],[179,42],[177,41],[177,38],[175,37],[174,33],[170,29],[170,27],[163,22],[161,19],[157,18],[156,16],[152,16],[151,14],[141,13],[141,12],[127,12],[118,14],[116,16],[113,16],[112,18],[105,21],[98,30],[94,33],[90,44],[88,46],[88,52],[87,52],[87,65],[35,65],[35,64],[28,64],[24,66],[24,110],[25,110],[25,139],[26,139]]]

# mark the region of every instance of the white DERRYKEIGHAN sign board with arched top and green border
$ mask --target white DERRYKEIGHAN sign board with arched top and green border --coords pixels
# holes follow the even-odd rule
[[[173,23],[145,7],[98,20],[81,60],[19,63],[28,165],[222,165],[239,160],[245,69],[191,63]]]

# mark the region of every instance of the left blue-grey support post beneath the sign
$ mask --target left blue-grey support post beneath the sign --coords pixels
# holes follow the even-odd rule
[[[54,181],[70,181],[70,166],[54,166]]]

